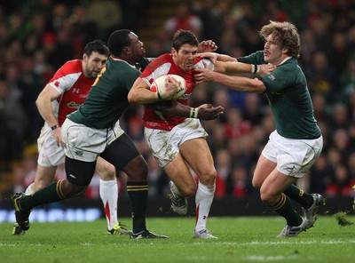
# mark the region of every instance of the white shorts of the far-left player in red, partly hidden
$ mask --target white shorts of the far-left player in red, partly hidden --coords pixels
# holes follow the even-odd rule
[[[51,127],[44,124],[37,139],[38,160],[37,163],[44,167],[55,167],[64,163],[64,149],[57,145]]]

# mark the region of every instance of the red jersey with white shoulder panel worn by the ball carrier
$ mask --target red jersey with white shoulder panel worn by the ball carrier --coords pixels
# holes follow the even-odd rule
[[[199,60],[196,60],[195,63],[197,63],[198,61]],[[170,53],[162,54],[160,57],[154,59],[154,61],[151,62],[142,72],[140,78],[142,78],[142,80],[144,80],[146,84],[150,86],[150,84],[152,84],[153,81],[159,76],[167,74],[175,74],[185,78],[185,94],[181,97],[181,99],[177,101],[184,105],[187,105],[188,98],[190,97],[194,87],[196,86],[196,81],[193,78],[193,71],[190,70],[188,72],[185,72],[181,68],[178,68],[177,65],[174,63]],[[145,107],[145,112],[143,116],[144,124],[147,128],[165,131],[170,131],[177,124],[183,123],[185,119],[185,117],[163,115],[161,112],[155,111],[149,106]]]

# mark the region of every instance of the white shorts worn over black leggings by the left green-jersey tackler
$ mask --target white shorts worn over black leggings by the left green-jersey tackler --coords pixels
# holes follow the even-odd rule
[[[83,162],[94,162],[114,139],[124,131],[119,122],[113,128],[93,129],[83,124],[75,124],[68,118],[61,126],[61,137],[67,157]]]

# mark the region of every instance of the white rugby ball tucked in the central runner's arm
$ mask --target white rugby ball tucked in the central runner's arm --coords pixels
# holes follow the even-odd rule
[[[168,76],[172,76],[174,77],[177,82],[179,83],[180,87],[177,90],[177,92],[175,92],[172,96],[170,96],[169,98],[167,98],[166,95],[166,88],[165,88],[165,81],[167,79]],[[175,74],[168,74],[168,75],[163,75],[163,76],[159,76],[158,78],[156,78],[153,83],[150,85],[150,90],[152,92],[156,92],[158,94],[158,97],[162,100],[175,100],[180,98],[186,91],[186,82],[185,82],[185,78],[182,76],[178,76]]]

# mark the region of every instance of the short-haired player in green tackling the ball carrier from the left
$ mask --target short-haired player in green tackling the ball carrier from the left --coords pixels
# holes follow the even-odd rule
[[[114,164],[127,176],[127,192],[130,197],[133,234],[131,239],[167,238],[146,229],[146,202],[148,192],[147,164],[130,137],[122,131],[118,119],[129,106],[128,92],[140,75],[136,63],[145,67],[143,43],[130,30],[114,31],[108,39],[111,56],[92,85],[84,103],[67,116],[61,135],[66,153],[67,179],[60,179],[34,195],[16,193],[12,196],[16,221],[23,230],[28,230],[30,211],[44,203],[53,203],[80,195],[89,186],[99,156]],[[170,82],[170,92],[175,93],[177,81]],[[152,92],[154,93],[154,92]],[[156,101],[159,101],[156,98]],[[154,101],[153,101],[154,102]],[[177,102],[159,107],[163,112],[177,116],[190,116],[190,107]],[[201,114],[200,114],[201,113]],[[207,105],[199,114],[202,119],[217,118],[223,108]]]

